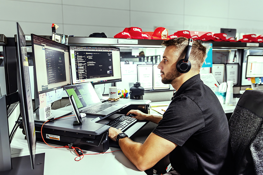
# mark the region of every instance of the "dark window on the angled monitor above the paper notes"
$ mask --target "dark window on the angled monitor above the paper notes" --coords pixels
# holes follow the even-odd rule
[[[45,48],[48,84],[66,81],[64,52]]]

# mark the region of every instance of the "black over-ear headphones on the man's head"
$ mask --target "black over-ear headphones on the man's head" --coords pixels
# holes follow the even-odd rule
[[[189,72],[191,69],[191,62],[188,59],[191,53],[193,39],[189,38],[188,41],[189,43],[187,46],[187,51],[186,51],[184,59],[179,60],[176,64],[177,71],[182,74]]]

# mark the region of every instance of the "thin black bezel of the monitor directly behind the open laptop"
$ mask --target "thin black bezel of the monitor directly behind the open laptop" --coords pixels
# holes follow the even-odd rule
[[[119,47],[113,47],[113,46],[74,45],[73,47],[118,48],[119,51],[120,51],[120,48],[119,48]],[[70,53],[70,46],[69,46],[69,53]],[[113,69],[114,69],[114,68],[113,68]],[[72,83],[72,85],[74,85],[74,84],[79,84],[79,83],[87,83],[87,82],[90,82],[90,83],[94,86],[94,85],[98,85],[98,84],[116,83],[116,82],[121,82],[121,81],[122,81],[122,72],[121,72],[121,64],[120,64],[120,76],[121,76],[121,78],[112,79],[112,80],[107,80],[107,81],[100,81],[100,82],[84,81],[84,82],[73,83],[71,54],[70,54],[70,75],[71,75],[71,83]]]

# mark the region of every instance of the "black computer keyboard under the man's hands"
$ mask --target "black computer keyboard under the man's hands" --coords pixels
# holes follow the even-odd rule
[[[124,131],[128,129],[131,125],[133,125],[137,121],[136,118],[128,117],[125,115],[121,115],[114,120],[111,120],[108,123],[105,123],[105,125],[108,125],[110,127],[115,127],[117,129],[121,129],[121,131]]]

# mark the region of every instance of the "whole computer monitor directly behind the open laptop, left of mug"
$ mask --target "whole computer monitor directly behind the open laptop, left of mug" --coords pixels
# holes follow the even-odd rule
[[[122,81],[120,48],[70,46],[72,84],[95,84]]]

